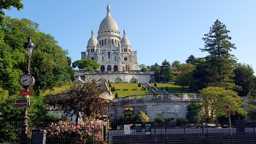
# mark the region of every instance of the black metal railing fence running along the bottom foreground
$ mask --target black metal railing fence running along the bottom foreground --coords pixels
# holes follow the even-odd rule
[[[29,124],[32,129],[47,130],[46,143],[95,144],[242,144],[256,143],[255,121],[232,123],[138,123],[103,121],[79,123]],[[19,143],[20,124],[0,122],[0,143]],[[231,135],[231,132],[232,135]]]

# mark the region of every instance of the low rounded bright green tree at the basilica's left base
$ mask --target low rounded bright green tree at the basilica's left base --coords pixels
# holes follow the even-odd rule
[[[72,67],[79,69],[86,69],[87,71],[94,72],[94,69],[99,69],[100,64],[95,60],[76,60],[72,63]]]

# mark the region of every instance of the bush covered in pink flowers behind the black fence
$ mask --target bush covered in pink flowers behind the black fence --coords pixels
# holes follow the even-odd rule
[[[103,140],[102,125],[100,120],[81,121],[77,124],[73,122],[59,121],[57,124],[51,123],[45,127],[47,136],[58,138],[59,140],[79,140],[79,141],[101,141]]]

